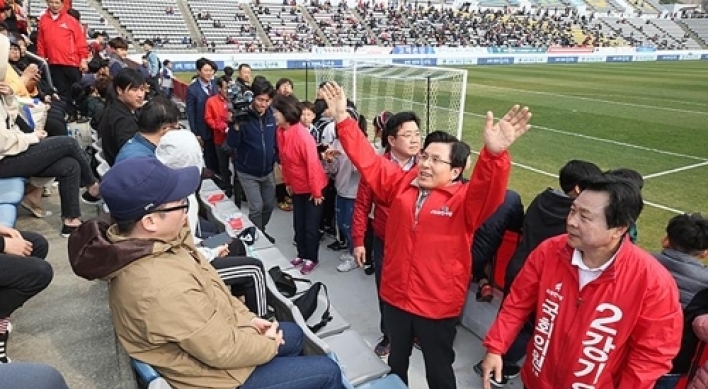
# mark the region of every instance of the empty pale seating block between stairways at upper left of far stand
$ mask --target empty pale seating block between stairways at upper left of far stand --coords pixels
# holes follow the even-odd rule
[[[160,50],[193,50],[187,23],[175,0],[103,0],[102,4],[133,34],[135,43],[150,39]]]

